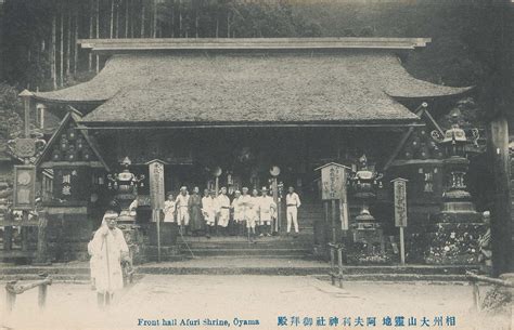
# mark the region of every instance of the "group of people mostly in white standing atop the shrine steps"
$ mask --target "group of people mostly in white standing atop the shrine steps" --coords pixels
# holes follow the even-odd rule
[[[204,190],[200,196],[200,188],[194,187],[190,195],[185,186],[180,188],[177,198],[167,194],[164,208],[164,222],[177,223],[181,235],[198,236],[205,233],[210,237],[215,233],[227,236],[248,235],[249,239],[256,236],[271,236],[272,224],[277,220],[278,208],[269,189],[262,187],[249,193],[247,187],[234,192],[232,201],[227,196],[227,187],[216,194],[216,190]],[[298,195],[293,187],[286,196],[287,233],[292,224],[298,233],[297,209],[300,206]]]

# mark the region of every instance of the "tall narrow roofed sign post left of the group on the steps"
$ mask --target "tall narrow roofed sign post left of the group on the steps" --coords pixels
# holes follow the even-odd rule
[[[146,163],[150,174],[150,201],[152,206],[152,220],[157,227],[157,262],[160,262],[160,212],[164,209],[164,166],[166,162],[154,159]]]

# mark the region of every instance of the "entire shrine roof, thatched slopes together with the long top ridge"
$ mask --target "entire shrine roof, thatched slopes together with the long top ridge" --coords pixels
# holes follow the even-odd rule
[[[397,51],[429,41],[80,40],[114,55],[92,80],[34,97],[95,107],[80,120],[89,128],[406,127],[420,118],[401,98],[423,102],[470,90],[409,75]]]

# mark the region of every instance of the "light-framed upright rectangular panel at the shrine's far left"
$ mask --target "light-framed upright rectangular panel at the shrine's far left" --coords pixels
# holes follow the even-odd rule
[[[14,167],[13,210],[33,210],[36,203],[36,167]]]

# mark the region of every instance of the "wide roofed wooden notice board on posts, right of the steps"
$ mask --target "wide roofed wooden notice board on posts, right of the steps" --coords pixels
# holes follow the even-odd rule
[[[329,162],[317,170],[321,170],[321,199],[332,204],[332,242],[337,241],[336,235],[336,201],[339,201],[339,215],[342,229],[348,230],[348,201],[346,192],[346,177],[348,167],[340,163]],[[325,207],[327,210],[327,207]]]

